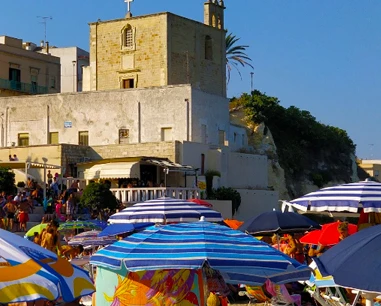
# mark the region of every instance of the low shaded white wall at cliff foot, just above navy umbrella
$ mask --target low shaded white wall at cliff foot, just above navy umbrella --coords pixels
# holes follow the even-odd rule
[[[234,214],[234,219],[246,221],[265,211],[274,208],[280,210],[278,192],[268,190],[238,189],[241,195],[241,205]]]

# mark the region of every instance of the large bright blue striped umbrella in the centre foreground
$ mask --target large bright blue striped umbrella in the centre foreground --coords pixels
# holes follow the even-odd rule
[[[90,262],[129,271],[218,270],[233,284],[262,285],[307,280],[311,271],[267,243],[229,227],[205,221],[151,226],[99,250]]]

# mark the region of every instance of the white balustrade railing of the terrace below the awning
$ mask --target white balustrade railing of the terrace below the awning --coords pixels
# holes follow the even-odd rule
[[[200,190],[198,188],[111,188],[115,197],[123,204],[143,202],[161,197],[171,197],[175,199],[198,199]]]

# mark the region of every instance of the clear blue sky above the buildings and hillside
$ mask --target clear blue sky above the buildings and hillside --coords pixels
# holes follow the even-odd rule
[[[203,0],[134,0],[136,15],[169,11],[203,21]],[[0,35],[89,49],[88,23],[122,18],[123,0],[1,0]],[[254,87],[346,130],[360,158],[381,159],[381,1],[225,0],[225,27],[250,46]],[[250,69],[228,94],[250,91]]]

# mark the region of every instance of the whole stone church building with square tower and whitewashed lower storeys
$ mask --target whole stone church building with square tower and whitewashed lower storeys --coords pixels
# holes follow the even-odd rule
[[[267,157],[240,153],[246,129],[230,123],[224,9],[207,1],[204,23],[172,13],[91,23],[84,92],[0,98],[0,159],[46,158],[116,188],[131,177],[194,187],[214,170],[216,185],[241,193],[237,218],[278,207]]]

